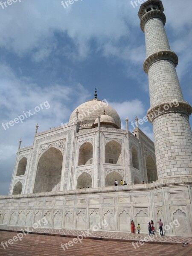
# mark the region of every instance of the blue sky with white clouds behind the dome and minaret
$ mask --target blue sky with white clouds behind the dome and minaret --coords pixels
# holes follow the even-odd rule
[[[135,116],[145,116],[150,103],[139,6],[129,0],[79,0],[66,9],[60,0],[0,6],[0,124],[46,101],[50,106],[9,129],[0,126],[0,195],[8,194],[20,137],[21,147],[29,146],[37,122],[38,131],[67,122],[95,87],[119,113],[122,128],[126,116],[130,131]],[[192,1],[164,0],[163,6],[184,99],[192,103]],[[150,123],[140,128],[153,138]]]

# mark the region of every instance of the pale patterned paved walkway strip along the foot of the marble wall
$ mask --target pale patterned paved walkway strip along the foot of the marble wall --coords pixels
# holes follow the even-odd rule
[[[84,236],[86,239],[95,239],[95,240],[105,240],[105,241],[140,241],[148,237],[148,234],[130,234],[123,232],[106,232],[106,231],[86,231],[81,230],[66,230],[66,229],[57,229],[57,228],[33,228],[33,227],[18,227],[18,226],[5,226],[0,225],[0,230],[2,231],[14,231],[20,232],[26,230],[26,232],[33,234],[49,235],[49,236],[63,236],[75,238],[77,236]],[[160,244],[180,244],[187,242],[192,244],[192,237],[176,237],[176,236],[154,236],[149,239],[148,243],[155,242]]]

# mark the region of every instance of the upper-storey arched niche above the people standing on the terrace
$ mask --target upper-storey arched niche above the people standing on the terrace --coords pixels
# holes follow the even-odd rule
[[[105,145],[105,163],[122,165],[122,146],[116,140]]]

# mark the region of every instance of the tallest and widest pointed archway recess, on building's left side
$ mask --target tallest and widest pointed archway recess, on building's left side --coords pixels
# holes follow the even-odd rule
[[[61,182],[63,155],[57,148],[51,147],[38,162],[34,193],[57,191]]]

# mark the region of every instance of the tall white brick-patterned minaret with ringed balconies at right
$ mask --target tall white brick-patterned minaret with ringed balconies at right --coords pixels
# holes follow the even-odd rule
[[[164,29],[166,16],[160,0],[148,0],[140,7],[140,27],[145,33],[151,107],[148,119],[153,125],[158,179],[192,175],[192,108],[183,99],[176,66]]]

